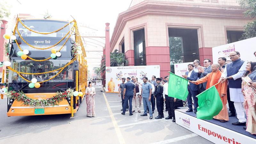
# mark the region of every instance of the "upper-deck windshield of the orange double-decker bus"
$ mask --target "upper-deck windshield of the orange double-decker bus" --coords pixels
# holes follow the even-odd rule
[[[41,33],[49,33],[56,31],[59,28],[65,26],[68,22],[67,21],[57,21],[57,20],[21,20],[26,27]],[[74,22],[70,24],[70,28],[72,28]],[[61,29],[58,32],[43,35],[38,34],[32,31],[29,31],[25,28],[21,23],[18,24],[18,30],[20,35],[23,36],[44,36],[44,37],[64,37],[69,31],[69,25],[65,28]],[[16,32],[16,36],[19,36]]]

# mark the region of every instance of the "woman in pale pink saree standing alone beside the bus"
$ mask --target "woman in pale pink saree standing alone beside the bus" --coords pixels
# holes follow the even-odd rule
[[[87,116],[95,116],[95,100],[94,95],[96,94],[95,88],[92,87],[92,82],[89,82],[89,87],[85,89],[86,94],[86,105],[87,105]]]

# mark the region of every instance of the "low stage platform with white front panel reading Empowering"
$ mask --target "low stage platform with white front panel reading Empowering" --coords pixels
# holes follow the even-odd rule
[[[188,108],[175,109],[176,124],[216,144],[256,144],[256,135],[246,132],[244,126],[235,126],[236,117],[229,117],[226,123],[219,120],[197,119],[194,112],[186,112]]]

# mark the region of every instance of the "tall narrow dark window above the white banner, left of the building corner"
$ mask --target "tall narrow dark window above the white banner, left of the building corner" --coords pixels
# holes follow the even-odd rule
[[[145,43],[145,30],[140,29],[133,31],[134,43],[134,65],[146,65],[146,43]]]

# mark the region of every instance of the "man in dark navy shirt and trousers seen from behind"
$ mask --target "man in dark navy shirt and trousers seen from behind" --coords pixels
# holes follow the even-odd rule
[[[132,98],[135,96],[136,91],[135,91],[135,85],[131,82],[131,78],[127,77],[127,83],[124,84],[124,94],[123,94],[123,99],[124,99],[124,108],[123,112],[121,113],[122,115],[125,115],[125,108],[128,107],[128,100],[129,100],[129,112],[130,115],[132,116]]]

